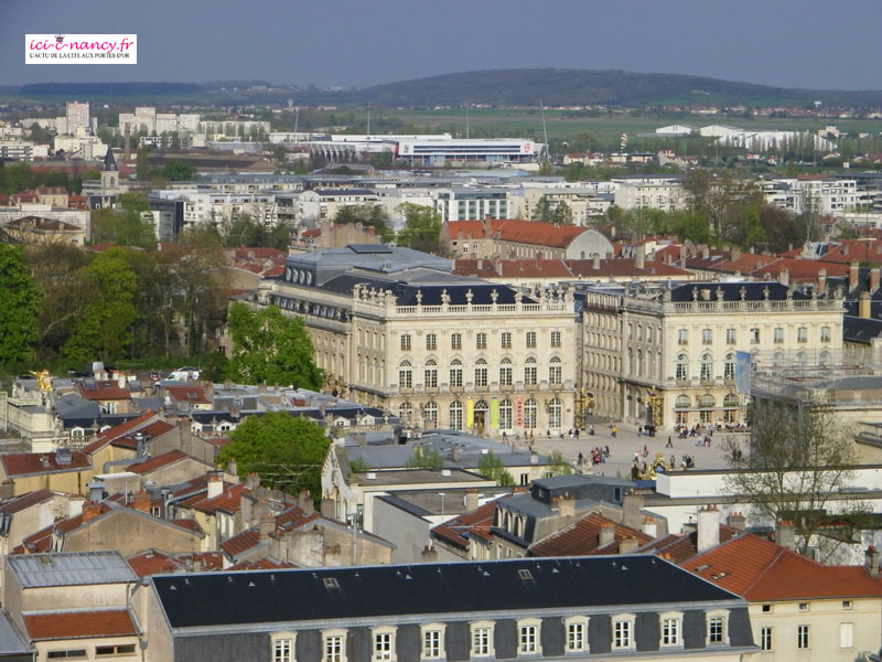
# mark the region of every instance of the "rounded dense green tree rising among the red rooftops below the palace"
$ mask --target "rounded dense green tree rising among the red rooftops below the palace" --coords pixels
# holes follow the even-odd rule
[[[309,490],[321,499],[322,463],[330,440],[312,420],[288,412],[248,416],[217,455],[220,467],[236,460],[239,476],[258,473],[261,484],[298,494]]]

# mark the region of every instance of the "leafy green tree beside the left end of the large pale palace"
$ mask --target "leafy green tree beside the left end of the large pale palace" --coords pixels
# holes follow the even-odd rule
[[[318,389],[322,372],[303,320],[288,318],[278,306],[256,311],[245,303],[229,308],[233,340],[229,376],[246,384],[295,384]]]

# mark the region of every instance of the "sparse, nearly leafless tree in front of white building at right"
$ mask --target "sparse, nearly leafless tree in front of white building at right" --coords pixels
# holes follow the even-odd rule
[[[736,442],[727,448],[735,471],[723,481],[739,501],[752,504],[770,523],[793,521],[803,554],[830,523],[833,506],[838,524],[862,520],[862,504],[842,499],[859,457],[851,429],[832,410],[755,402],[749,414],[746,452]]]

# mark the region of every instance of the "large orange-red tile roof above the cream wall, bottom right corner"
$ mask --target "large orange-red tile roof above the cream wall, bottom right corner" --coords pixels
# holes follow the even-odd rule
[[[699,554],[682,567],[751,602],[882,597],[882,579],[861,566],[826,566],[752,534]]]

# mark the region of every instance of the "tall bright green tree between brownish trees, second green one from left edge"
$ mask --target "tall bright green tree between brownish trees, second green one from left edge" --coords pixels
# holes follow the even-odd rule
[[[73,335],[65,342],[65,356],[78,361],[119,357],[131,342],[131,325],[138,317],[135,273],[126,252],[111,248],[95,257],[85,268],[94,297],[77,320]]]

